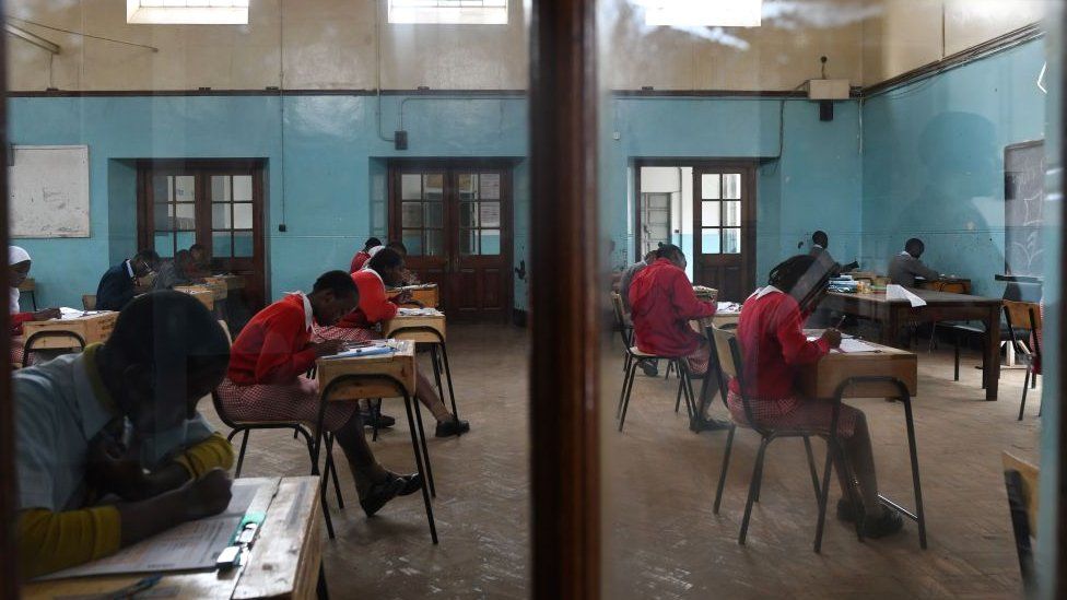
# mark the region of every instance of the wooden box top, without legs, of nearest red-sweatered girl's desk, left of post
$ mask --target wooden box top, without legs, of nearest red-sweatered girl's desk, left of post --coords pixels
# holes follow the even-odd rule
[[[408,390],[415,393],[415,343],[402,341],[396,352],[377,356],[352,358],[319,358],[315,363],[318,389],[325,390],[331,380],[341,375],[390,375]],[[330,400],[363,400],[365,398],[392,398],[397,395],[391,386],[351,385],[341,388]]]

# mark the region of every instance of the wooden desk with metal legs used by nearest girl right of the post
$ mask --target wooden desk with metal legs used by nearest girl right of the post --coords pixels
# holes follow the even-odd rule
[[[814,331],[809,332],[809,334],[816,333]],[[918,388],[918,357],[915,353],[905,350],[872,342],[863,343],[873,348],[875,352],[844,353],[834,351],[820,358],[818,363],[801,365],[797,376],[797,389],[804,398],[823,400],[891,398],[900,401],[904,408],[904,426],[907,432],[907,449],[912,463],[912,485],[915,491],[915,511],[904,508],[884,495],[879,495],[879,497],[882,503],[892,506],[918,523],[919,545],[925,549],[926,515],[923,508],[923,485],[918,470],[915,422],[912,419],[912,398]],[[853,378],[858,379],[853,384],[843,386]],[[870,380],[865,380],[865,378]],[[900,386],[903,386],[903,389]],[[829,469],[825,473],[830,473]]]

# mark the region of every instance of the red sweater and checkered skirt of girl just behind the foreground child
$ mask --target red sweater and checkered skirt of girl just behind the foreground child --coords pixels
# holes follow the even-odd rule
[[[304,374],[315,365],[308,348],[315,317],[307,296],[290,294],[248,321],[230,351],[230,370],[219,386],[219,397],[236,421],[315,423],[318,420],[318,383]],[[325,426],[343,427],[356,407],[330,402]]]

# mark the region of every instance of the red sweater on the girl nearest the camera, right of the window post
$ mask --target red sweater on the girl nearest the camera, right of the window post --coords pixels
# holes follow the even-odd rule
[[[804,321],[797,301],[783,292],[771,291],[763,296],[757,293],[744,301],[737,340],[741,345],[741,374],[749,397],[761,400],[794,397],[797,366],[814,363],[830,352],[825,340],[808,340]],[[737,380],[730,381],[730,389],[741,391]]]

